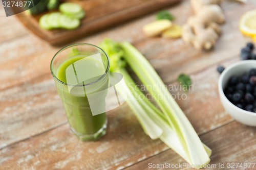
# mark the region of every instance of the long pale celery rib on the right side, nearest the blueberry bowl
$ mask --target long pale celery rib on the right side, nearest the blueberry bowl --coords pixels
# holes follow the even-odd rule
[[[153,88],[149,88],[148,92],[152,94],[154,100],[166,116],[170,126],[178,135],[182,148],[186,155],[188,155],[188,162],[199,166],[208,164],[210,159],[200,138],[172,95],[170,95],[167,88],[164,87],[164,83],[155,69],[129,42],[122,42],[120,45],[125,53],[123,56],[124,59],[134,70],[142,83],[154,87],[154,90],[152,90]],[[163,100],[159,101],[157,95],[161,95]]]

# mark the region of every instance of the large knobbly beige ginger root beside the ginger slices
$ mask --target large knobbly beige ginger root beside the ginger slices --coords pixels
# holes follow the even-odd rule
[[[221,33],[220,25],[225,22],[220,8],[221,0],[190,0],[195,16],[188,18],[183,26],[182,38],[198,50],[212,48]]]

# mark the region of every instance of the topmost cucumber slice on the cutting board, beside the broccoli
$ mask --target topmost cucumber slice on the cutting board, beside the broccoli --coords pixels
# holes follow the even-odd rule
[[[63,3],[59,6],[59,10],[65,14],[77,14],[83,11],[82,7],[74,3]]]

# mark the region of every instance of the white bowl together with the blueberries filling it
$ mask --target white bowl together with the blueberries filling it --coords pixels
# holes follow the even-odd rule
[[[239,61],[225,68],[218,86],[225,110],[238,122],[256,127],[256,60]]]

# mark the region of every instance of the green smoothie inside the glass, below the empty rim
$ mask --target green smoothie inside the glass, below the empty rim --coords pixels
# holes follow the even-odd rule
[[[81,140],[96,140],[105,133],[106,114],[93,116],[87,98],[91,93],[108,88],[108,75],[99,79],[104,74],[102,61],[90,56],[70,57],[57,68],[56,77],[68,84],[56,83],[57,91],[65,107],[71,130]],[[98,107],[105,107],[104,102],[99,101],[90,102],[97,102]]]

